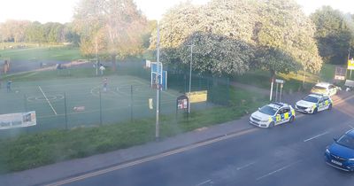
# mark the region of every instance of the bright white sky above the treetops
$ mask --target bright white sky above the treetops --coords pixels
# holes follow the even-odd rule
[[[0,22],[6,19],[27,19],[45,22],[70,22],[73,8],[80,0],[0,0]],[[160,19],[173,5],[183,0],[134,0],[148,19]],[[192,0],[194,4],[205,4],[209,0]],[[296,0],[306,14],[322,5],[330,5],[344,13],[354,14],[353,0]]]

